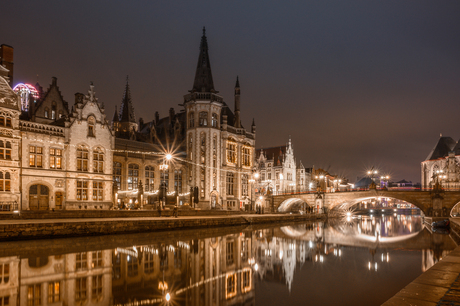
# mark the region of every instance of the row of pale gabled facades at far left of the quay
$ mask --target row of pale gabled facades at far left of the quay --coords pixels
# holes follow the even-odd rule
[[[69,112],[56,78],[13,90],[0,67],[0,209],[110,208],[114,137],[94,86]]]

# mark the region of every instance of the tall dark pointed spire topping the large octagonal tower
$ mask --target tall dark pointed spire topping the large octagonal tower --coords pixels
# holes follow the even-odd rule
[[[206,29],[203,27],[203,36],[201,37],[200,55],[196,67],[195,80],[191,92],[216,92],[214,82],[212,81],[211,63],[208,54],[208,40],[206,38]]]

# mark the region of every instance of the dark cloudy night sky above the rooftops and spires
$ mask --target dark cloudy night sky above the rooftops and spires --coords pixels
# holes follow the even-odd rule
[[[257,148],[289,136],[297,161],[420,182],[443,136],[460,138],[460,1],[4,1],[14,83],[95,85],[111,120],[126,75],[137,118],[167,116],[192,89],[206,26],[216,90]],[[38,77],[37,77],[38,75]]]

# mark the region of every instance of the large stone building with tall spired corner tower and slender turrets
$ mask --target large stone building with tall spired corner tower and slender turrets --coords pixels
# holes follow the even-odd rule
[[[232,111],[215,90],[204,30],[193,87],[179,112],[171,108],[167,117],[156,112],[154,120],[136,122],[127,82],[112,120],[116,201],[154,207],[165,198],[171,205],[226,210],[249,202],[256,126],[243,127],[240,94],[237,78]]]

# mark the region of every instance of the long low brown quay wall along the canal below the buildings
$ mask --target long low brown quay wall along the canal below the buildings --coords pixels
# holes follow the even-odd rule
[[[181,218],[87,218],[0,221],[0,241],[248,226],[324,218],[320,215],[239,215]]]

